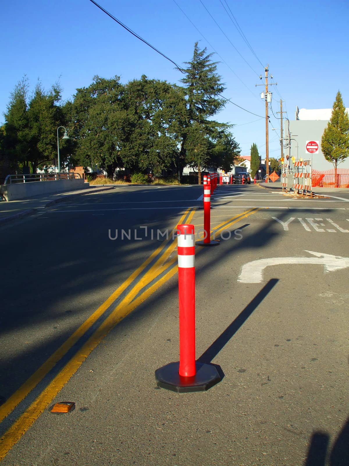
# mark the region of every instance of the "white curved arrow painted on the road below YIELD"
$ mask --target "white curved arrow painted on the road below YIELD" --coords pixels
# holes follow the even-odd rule
[[[242,267],[237,281],[240,281],[241,283],[260,283],[263,280],[263,270],[269,265],[323,264],[325,273],[349,267],[349,257],[315,253],[314,251],[305,252],[317,257],[270,257],[268,259],[259,259],[248,262]]]

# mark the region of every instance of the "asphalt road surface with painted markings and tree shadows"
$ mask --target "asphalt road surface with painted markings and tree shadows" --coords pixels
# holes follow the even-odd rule
[[[178,361],[172,232],[202,231],[202,186],[118,186],[1,226],[1,466],[348,465],[349,193],[324,195],[215,190],[196,358],[224,377],[199,393],[154,371]]]

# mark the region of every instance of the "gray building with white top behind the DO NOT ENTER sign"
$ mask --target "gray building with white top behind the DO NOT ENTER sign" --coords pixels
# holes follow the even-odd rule
[[[349,113],[349,109],[346,109]],[[321,151],[321,137],[326,128],[332,109],[298,109],[296,107],[295,120],[285,120],[284,123],[284,157],[289,155],[296,160],[310,160],[312,157],[313,170],[332,170],[333,164],[328,162]],[[316,141],[319,145],[319,153],[311,156],[306,151],[307,141]],[[338,168],[349,168],[349,158],[338,165]]]

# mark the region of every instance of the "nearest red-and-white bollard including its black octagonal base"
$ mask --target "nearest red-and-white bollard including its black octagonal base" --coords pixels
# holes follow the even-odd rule
[[[195,361],[194,225],[178,225],[179,362],[155,370],[159,387],[177,392],[204,391],[221,381],[213,364]]]

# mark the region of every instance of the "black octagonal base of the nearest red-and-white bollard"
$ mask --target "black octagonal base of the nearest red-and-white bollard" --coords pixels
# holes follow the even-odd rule
[[[166,364],[155,370],[156,384],[177,393],[187,393],[208,390],[221,381],[221,376],[213,364],[196,362],[195,368],[195,376],[181,377],[178,373],[179,362]]]

